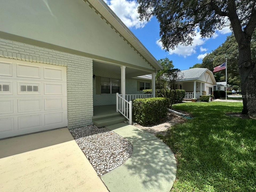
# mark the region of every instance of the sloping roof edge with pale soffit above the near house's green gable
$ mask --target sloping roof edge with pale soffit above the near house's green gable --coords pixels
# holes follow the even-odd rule
[[[85,1],[85,0],[84,0]],[[131,30],[103,0],[87,0],[156,70],[163,69]]]

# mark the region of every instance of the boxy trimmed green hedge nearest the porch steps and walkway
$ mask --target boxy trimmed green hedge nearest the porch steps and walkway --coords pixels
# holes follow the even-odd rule
[[[158,123],[166,118],[169,103],[164,97],[134,99],[133,119],[143,126]]]

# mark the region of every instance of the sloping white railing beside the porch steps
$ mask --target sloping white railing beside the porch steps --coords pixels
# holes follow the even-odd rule
[[[117,93],[117,112],[121,113],[132,124],[132,101],[127,101],[121,94]]]

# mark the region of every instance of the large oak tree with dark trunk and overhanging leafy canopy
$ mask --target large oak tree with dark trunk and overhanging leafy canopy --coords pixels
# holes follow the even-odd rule
[[[202,38],[230,23],[238,43],[243,114],[256,114],[256,67],[251,57],[251,37],[256,27],[256,0],[137,0],[139,18],[155,16],[160,23],[163,48],[190,45],[195,29]],[[221,63],[220,63],[221,64]]]

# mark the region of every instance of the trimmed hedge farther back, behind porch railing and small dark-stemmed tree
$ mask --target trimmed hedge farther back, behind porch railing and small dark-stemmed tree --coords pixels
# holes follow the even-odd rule
[[[170,90],[167,90],[170,91]],[[173,92],[173,91],[172,91]],[[183,99],[185,98],[185,90],[180,90],[177,89],[176,90],[176,97],[175,98],[169,98],[169,99],[173,99],[173,103],[181,103],[183,101]],[[152,94],[152,89],[145,89],[143,90],[143,94]],[[155,96],[156,97],[163,97],[163,95],[165,97],[167,97],[166,95],[166,89],[156,89],[155,90]]]

